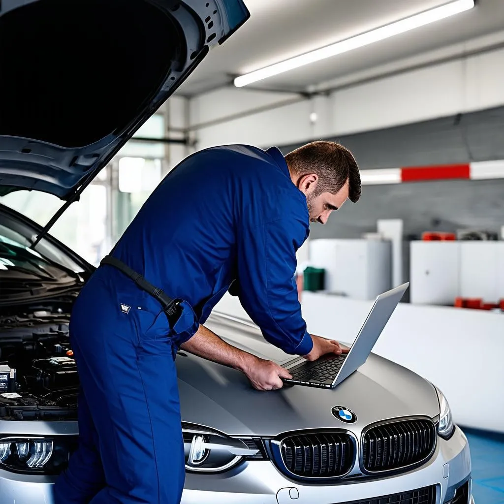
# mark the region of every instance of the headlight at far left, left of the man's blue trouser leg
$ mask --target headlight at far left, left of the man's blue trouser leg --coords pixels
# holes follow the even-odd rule
[[[69,437],[0,438],[0,468],[24,474],[59,474],[68,465],[75,440]]]

